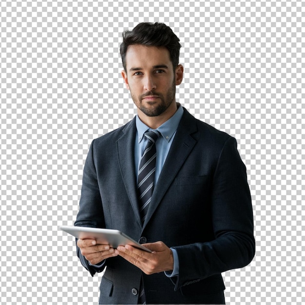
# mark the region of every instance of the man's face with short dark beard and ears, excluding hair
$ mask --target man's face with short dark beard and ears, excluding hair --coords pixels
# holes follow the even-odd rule
[[[129,46],[126,70],[122,76],[134,104],[143,114],[158,116],[175,104],[176,85],[182,81],[183,68],[178,66],[173,71],[166,48]]]

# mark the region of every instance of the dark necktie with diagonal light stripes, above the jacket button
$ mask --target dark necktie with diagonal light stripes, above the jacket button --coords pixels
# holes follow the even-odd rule
[[[152,130],[144,133],[148,142],[142,154],[138,171],[138,194],[140,201],[140,214],[144,223],[146,213],[152,198],[154,172],[156,166],[156,147],[155,141],[161,133]]]

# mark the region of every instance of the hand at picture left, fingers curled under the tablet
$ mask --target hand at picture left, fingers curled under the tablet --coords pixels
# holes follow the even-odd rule
[[[77,246],[91,265],[97,265],[106,258],[117,256],[114,248],[110,248],[109,245],[97,245],[94,239],[78,239]]]

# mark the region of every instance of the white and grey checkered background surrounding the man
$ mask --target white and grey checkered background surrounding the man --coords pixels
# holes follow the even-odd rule
[[[305,2],[1,0],[1,304],[97,304],[73,225],[91,141],[135,114],[121,33],[170,25],[183,45],[178,100],[237,138],[256,256],[225,272],[227,304],[305,302]]]

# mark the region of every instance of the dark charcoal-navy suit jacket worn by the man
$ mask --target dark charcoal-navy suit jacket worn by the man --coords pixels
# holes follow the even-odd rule
[[[142,224],[135,135],[133,119],[92,142],[75,226],[118,229],[141,243],[163,241],[177,251],[179,275],[145,275],[120,256],[96,268],[76,246],[77,255],[92,276],[106,267],[99,304],[137,304],[141,277],[147,304],[204,304],[225,289],[221,273],[248,265],[255,252],[251,196],[236,140],[184,109]]]

